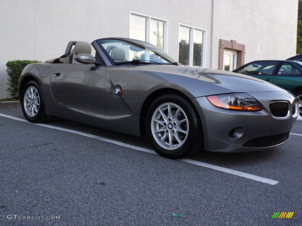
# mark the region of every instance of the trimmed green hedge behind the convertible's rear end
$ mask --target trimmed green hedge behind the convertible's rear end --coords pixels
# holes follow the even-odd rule
[[[9,85],[9,88],[6,90],[10,93],[12,97],[18,96],[18,82],[24,67],[27,64],[38,63],[38,62],[41,61],[13,60],[13,61],[8,61],[6,63],[6,67],[7,67],[6,72],[8,74],[7,84]]]

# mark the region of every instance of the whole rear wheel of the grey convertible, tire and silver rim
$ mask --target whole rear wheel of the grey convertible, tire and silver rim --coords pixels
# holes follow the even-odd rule
[[[22,90],[21,107],[25,118],[34,123],[47,121],[40,85],[30,81]]]

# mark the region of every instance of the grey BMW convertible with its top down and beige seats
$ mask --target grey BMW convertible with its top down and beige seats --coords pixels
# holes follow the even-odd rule
[[[64,55],[24,68],[19,96],[28,121],[56,116],[146,136],[167,158],[280,146],[298,115],[295,97],[278,86],[185,66],[125,38],[70,41]]]

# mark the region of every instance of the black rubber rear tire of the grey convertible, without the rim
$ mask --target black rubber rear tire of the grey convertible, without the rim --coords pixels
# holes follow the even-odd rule
[[[40,99],[39,100],[40,101],[39,109],[37,111],[37,114],[34,115],[33,117],[30,117],[29,115],[27,115],[27,113],[25,111],[25,107],[24,107],[25,92],[26,92],[27,88],[30,86],[34,86],[35,89],[37,89],[37,92],[39,94],[39,99]],[[30,122],[38,123],[38,122],[43,122],[47,119],[47,117],[45,115],[45,110],[44,110],[43,95],[42,95],[42,92],[40,89],[40,85],[36,81],[30,81],[24,86],[24,89],[22,90],[22,96],[21,96],[21,107],[22,107],[24,117]]]

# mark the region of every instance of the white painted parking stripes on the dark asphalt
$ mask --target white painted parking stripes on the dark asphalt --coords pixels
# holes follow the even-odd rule
[[[42,123],[31,123],[31,122],[29,122],[25,119],[17,118],[17,117],[11,116],[11,115],[4,115],[4,114],[1,114],[1,113],[0,113],[0,116],[5,117],[5,118],[10,118],[10,119],[13,119],[13,120],[17,120],[17,121],[21,121],[21,122],[30,123],[30,124],[33,124],[33,125],[38,125],[38,126],[51,128],[51,129],[56,129],[56,130],[61,130],[61,131],[69,132],[69,133],[74,133],[74,134],[78,134],[78,135],[81,135],[81,136],[90,137],[90,138],[94,138],[94,139],[97,139],[97,140],[105,141],[105,142],[108,142],[108,143],[113,143],[113,144],[116,144],[116,145],[119,145],[119,146],[135,149],[135,150],[138,150],[138,151],[148,152],[148,153],[151,153],[151,154],[158,155],[155,151],[153,151],[151,149],[134,146],[134,145],[131,145],[131,144],[123,143],[123,142],[116,141],[116,140],[111,140],[111,139],[104,138],[104,137],[99,137],[99,136],[92,135],[92,134],[89,134],[89,133],[83,133],[83,132],[76,131],[76,130],[65,129],[65,128],[52,126],[52,125],[47,125],[47,124],[42,124]],[[293,133],[293,134],[302,136],[300,134],[295,134],[295,133]],[[192,159],[178,159],[178,161],[186,162],[186,163],[190,163],[190,164],[193,164],[193,165],[198,165],[198,166],[202,166],[202,167],[206,167],[206,168],[210,168],[210,169],[214,169],[214,170],[225,172],[225,173],[228,173],[228,174],[233,174],[233,175],[236,175],[236,176],[239,176],[239,177],[245,177],[245,178],[248,178],[248,179],[251,179],[251,180],[260,181],[260,182],[265,183],[265,184],[275,185],[275,184],[279,183],[279,181],[276,181],[276,180],[271,180],[271,179],[268,179],[268,178],[265,178],[265,177],[259,177],[259,176],[253,175],[253,174],[243,173],[243,172],[240,172],[240,171],[236,171],[236,170],[232,170],[232,169],[228,169],[228,168],[224,168],[224,167],[220,167],[220,166],[217,166],[217,165],[212,165],[212,164],[208,164],[208,163],[204,163],[204,162],[199,162],[199,161],[195,161],[195,160],[192,160]]]

